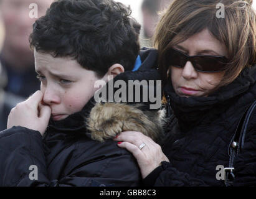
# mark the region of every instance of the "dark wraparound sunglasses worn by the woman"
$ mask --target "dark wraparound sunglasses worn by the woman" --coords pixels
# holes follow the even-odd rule
[[[179,50],[169,49],[166,54],[168,66],[183,68],[187,62],[191,62],[198,72],[220,72],[226,69],[227,58],[214,55],[189,56]]]

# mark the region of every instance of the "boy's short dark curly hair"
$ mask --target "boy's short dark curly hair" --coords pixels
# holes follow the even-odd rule
[[[140,24],[130,7],[112,0],[58,0],[33,25],[37,52],[72,57],[98,76],[115,63],[132,70],[140,50]]]

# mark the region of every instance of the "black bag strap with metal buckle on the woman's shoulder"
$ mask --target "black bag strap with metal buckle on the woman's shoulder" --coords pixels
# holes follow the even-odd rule
[[[235,134],[232,137],[232,140],[229,144],[229,167],[224,169],[225,172],[225,185],[227,187],[231,186],[235,180],[235,175],[233,173],[234,169],[234,159],[236,155],[238,155],[241,150],[244,148],[244,139],[247,131],[247,125],[250,120],[250,116],[256,107],[256,101],[252,103],[252,105],[247,108],[243,117],[239,121],[239,125],[235,130]]]

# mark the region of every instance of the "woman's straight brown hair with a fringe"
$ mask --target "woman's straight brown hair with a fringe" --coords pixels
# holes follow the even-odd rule
[[[224,5],[224,18],[216,16],[219,3]],[[163,85],[169,69],[164,59],[167,50],[204,29],[209,29],[227,48],[229,63],[220,86],[231,83],[245,67],[256,63],[256,22],[252,0],[174,0],[161,18],[154,36]]]

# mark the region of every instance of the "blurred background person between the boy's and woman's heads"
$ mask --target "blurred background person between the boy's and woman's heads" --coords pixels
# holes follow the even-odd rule
[[[173,0],[143,0],[141,13],[143,18],[143,35],[141,46],[152,47],[154,29],[159,21],[159,12],[166,9]]]

